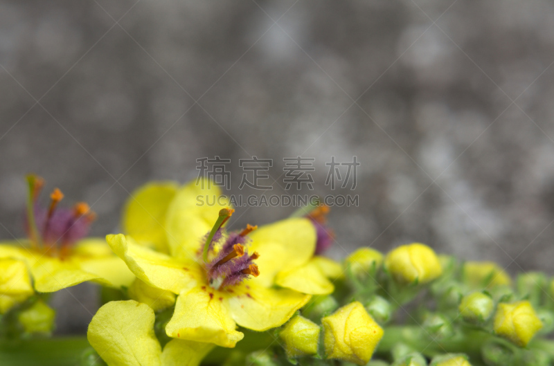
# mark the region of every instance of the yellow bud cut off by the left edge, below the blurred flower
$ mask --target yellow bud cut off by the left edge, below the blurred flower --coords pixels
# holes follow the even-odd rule
[[[24,302],[33,293],[25,262],[0,259],[0,314]]]

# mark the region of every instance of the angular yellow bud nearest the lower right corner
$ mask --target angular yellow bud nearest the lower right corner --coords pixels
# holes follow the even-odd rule
[[[494,333],[525,347],[542,328],[542,322],[528,301],[500,303],[494,315]]]

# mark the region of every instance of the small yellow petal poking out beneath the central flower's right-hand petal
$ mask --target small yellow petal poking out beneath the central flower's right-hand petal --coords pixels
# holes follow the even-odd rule
[[[313,260],[304,266],[277,273],[275,283],[281,287],[311,295],[328,295],[334,291],[333,284]]]

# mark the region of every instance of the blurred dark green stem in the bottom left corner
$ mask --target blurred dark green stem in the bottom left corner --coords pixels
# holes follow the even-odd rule
[[[75,366],[89,347],[87,337],[0,340],[0,365]]]

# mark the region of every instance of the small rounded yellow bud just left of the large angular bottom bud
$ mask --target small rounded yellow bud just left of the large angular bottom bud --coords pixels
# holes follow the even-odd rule
[[[285,342],[287,357],[295,358],[317,353],[319,326],[300,315],[295,316],[280,331],[279,336]]]

